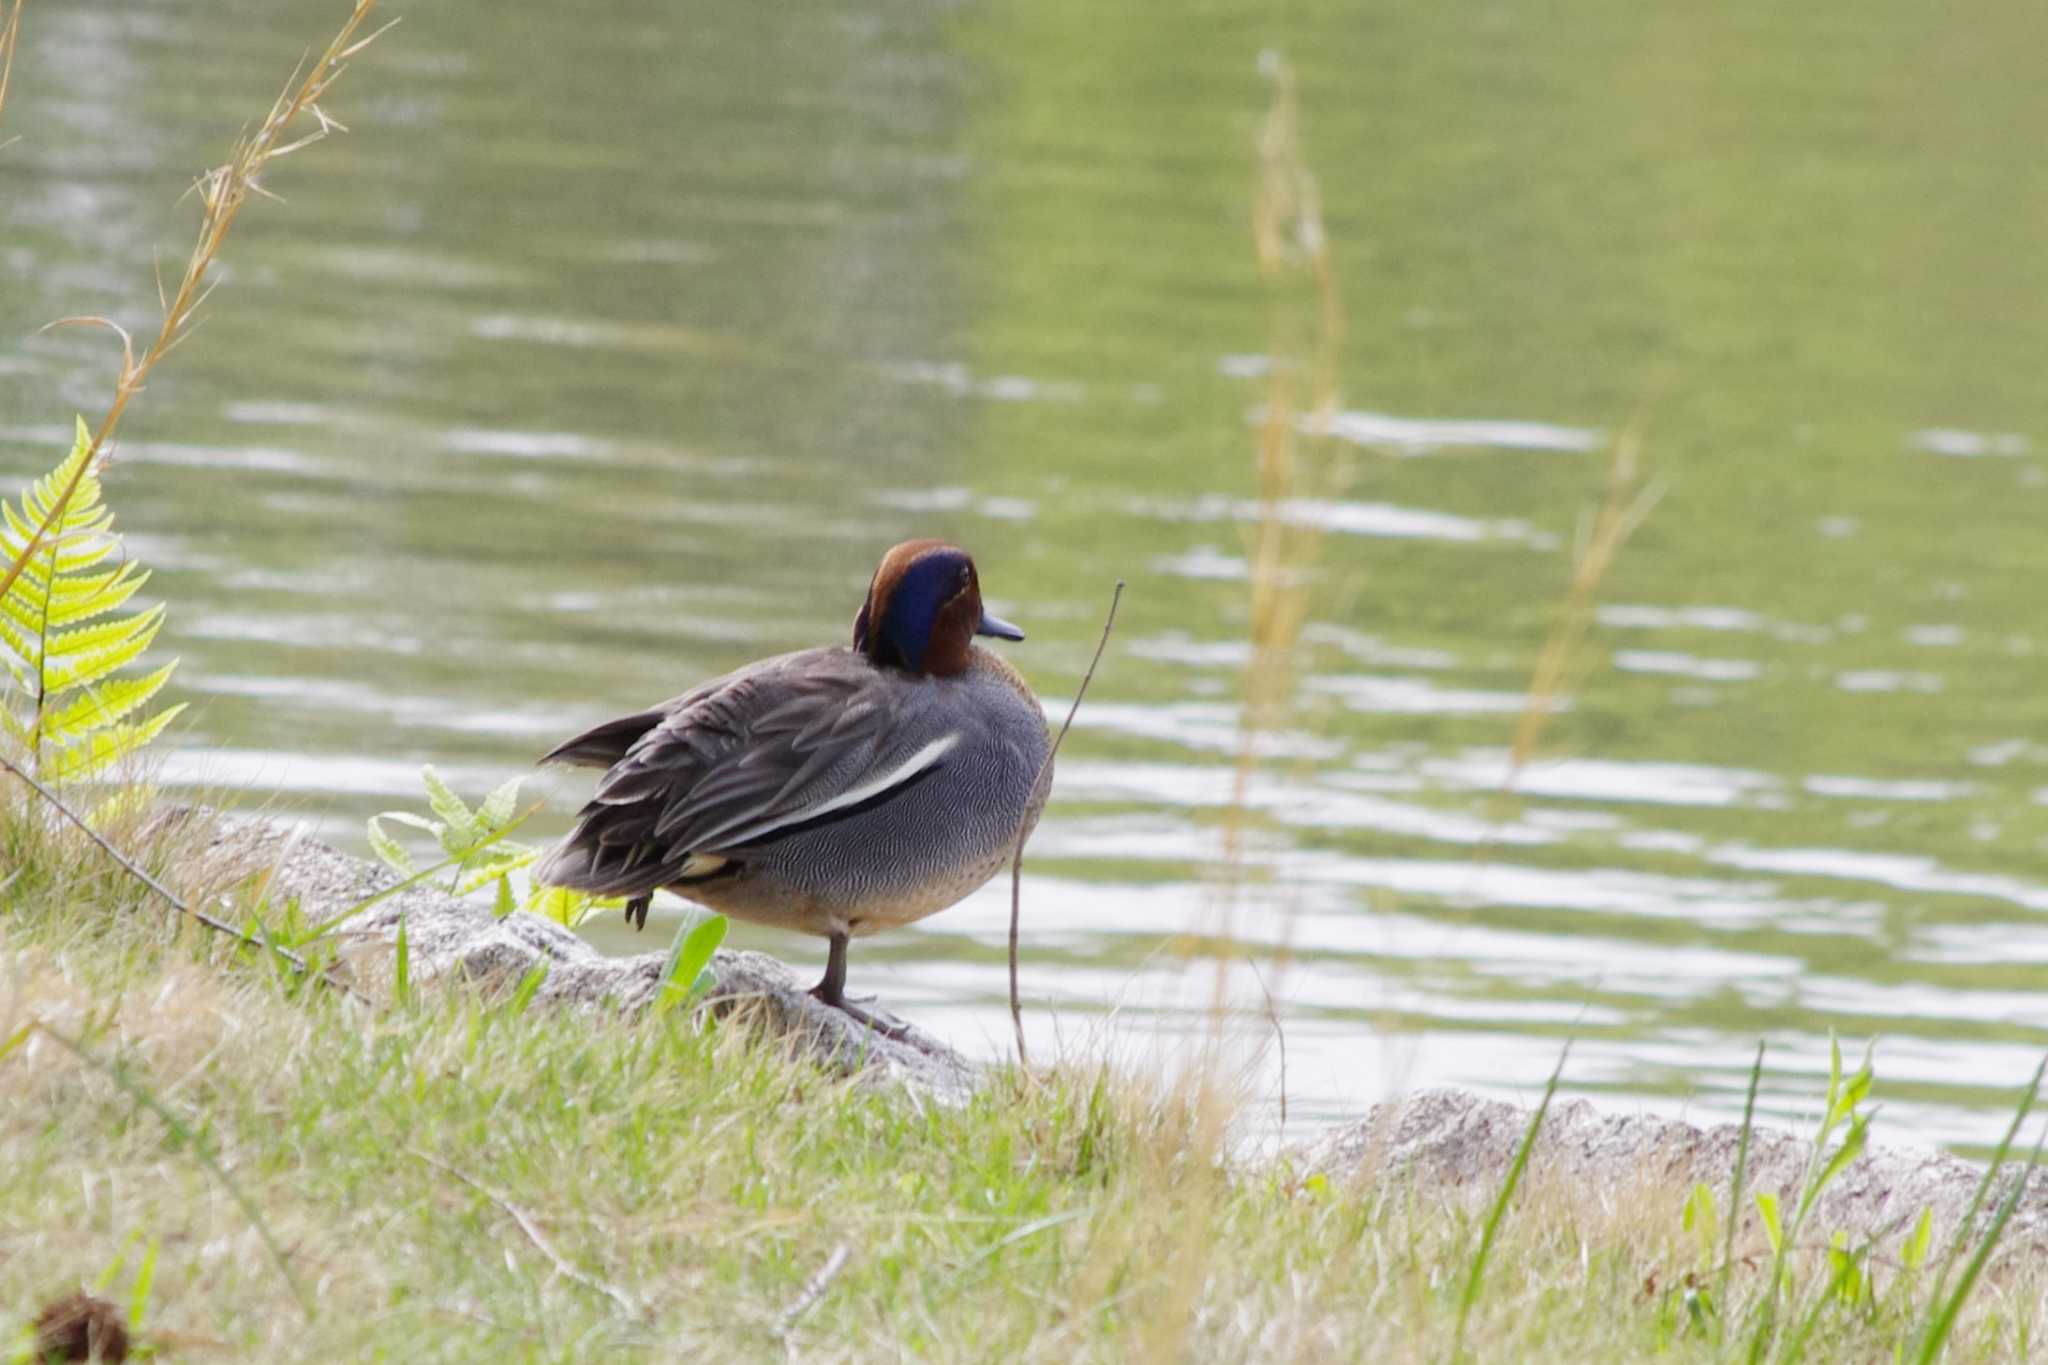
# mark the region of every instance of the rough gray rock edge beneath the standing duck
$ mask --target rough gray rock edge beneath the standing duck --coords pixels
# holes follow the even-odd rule
[[[383,864],[352,857],[266,819],[225,819],[201,853],[215,884],[268,878],[272,905],[297,900],[299,915],[328,923],[371,896],[389,892],[399,876]],[[535,964],[547,964],[537,1001],[637,1013],[655,999],[666,952],[608,958],[551,919],[514,911],[504,919],[475,900],[457,900],[434,886],[408,886],[350,915],[336,929],[344,960],[358,982],[391,972],[399,923],[406,925],[408,970],[414,982],[465,978],[512,986]],[[905,1038],[874,1033],[838,1009],[819,1005],[795,974],[758,952],[719,952],[711,962],[719,984],[707,1009],[743,1017],[844,1074],[903,1081],[938,1097],[963,1097],[975,1066],[944,1042],[907,1025]]]

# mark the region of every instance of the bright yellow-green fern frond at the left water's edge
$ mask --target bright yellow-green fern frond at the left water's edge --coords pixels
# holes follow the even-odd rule
[[[0,501],[0,569],[20,569],[0,596],[0,731],[47,782],[104,772],[184,710],[143,712],[176,659],[117,677],[156,641],[164,608],[121,610],[150,571],[123,553],[90,458],[80,420],[72,452],[18,503]]]

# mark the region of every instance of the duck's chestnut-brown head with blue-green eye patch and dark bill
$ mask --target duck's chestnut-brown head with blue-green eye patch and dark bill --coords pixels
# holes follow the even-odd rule
[[[944,540],[905,540],[883,555],[854,618],[854,649],[877,667],[905,673],[950,677],[965,671],[977,634],[1024,639],[981,608],[975,561]]]

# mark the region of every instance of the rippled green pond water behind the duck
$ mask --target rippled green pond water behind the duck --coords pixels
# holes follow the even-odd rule
[[[0,329],[150,317],[178,192],[338,6],[29,14]],[[1034,860],[1065,1036],[1190,1027],[1235,749],[1266,295],[1257,57],[1300,74],[1350,321],[1350,487],[1294,733],[1253,790],[1292,1109],[1571,1078],[1778,1113],[1880,1038],[1888,1121],[1982,1144],[2048,1046],[2044,16],[1915,4],[451,0],[338,90],[125,428],[188,778],[326,833],[846,630],[879,548],[975,548],[1067,698]],[[96,411],[0,354],[0,469]],[[1520,690],[1642,411],[1669,481],[1546,761]],[[1399,417],[1386,422],[1384,417]],[[1511,428],[1446,430],[1493,420]],[[565,812],[573,780],[555,780]],[[1006,1021],[987,892],[856,976]],[[623,941],[614,929],[606,941]],[[815,945],[741,931],[795,958]],[[1268,966],[1272,978],[1272,964]],[[1040,1023],[1051,1042],[1053,1025]],[[1270,1076],[1268,1076],[1270,1081]]]

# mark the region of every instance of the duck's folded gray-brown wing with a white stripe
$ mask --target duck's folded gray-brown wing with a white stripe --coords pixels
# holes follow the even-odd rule
[[[543,876],[575,874],[569,884],[592,890],[709,876],[901,794],[958,743],[928,716],[905,718],[864,663],[739,675],[633,741]]]

